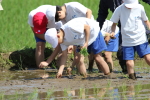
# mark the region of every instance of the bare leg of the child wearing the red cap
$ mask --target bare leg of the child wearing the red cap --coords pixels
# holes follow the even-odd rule
[[[37,42],[35,51],[35,60],[37,67],[39,67],[40,62],[44,61],[44,50],[45,42]]]

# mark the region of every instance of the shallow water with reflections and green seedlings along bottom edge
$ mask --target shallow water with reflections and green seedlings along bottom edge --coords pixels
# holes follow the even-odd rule
[[[109,88],[80,88],[77,90],[52,91],[44,93],[34,91],[29,94],[5,95],[5,99],[10,100],[149,100],[150,99],[150,84],[149,85],[122,85],[121,87]]]

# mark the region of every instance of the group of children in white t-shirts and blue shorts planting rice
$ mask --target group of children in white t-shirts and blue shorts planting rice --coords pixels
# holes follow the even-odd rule
[[[124,11],[124,12],[122,12]],[[59,70],[56,75],[61,78],[68,50],[74,48],[74,61],[80,74],[86,77],[84,56],[76,49],[86,48],[90,58],[94,58],[98,69],[106,77],[110,77],[113,69],[112,52],[118,50],[119,28],[121,22],[123,59],[126,60],[129,78],[136,79],[134,72],[134,52],[144,57],[150,65],[150,48],[145,34],[143,21],[150,28],[144,7],[138,0],[123,0],[112,15],[106,20],[101,30],[94,20],[92,11],[78,2],[65,3],[63,6],[42,5],[29,13],[28,23],[36,39],[36,64],[39,68],[48,66],[61,52]],[[44,61],[45,42],[54,49],[50,57]],[[102,57],[105,51],[105,60]]]

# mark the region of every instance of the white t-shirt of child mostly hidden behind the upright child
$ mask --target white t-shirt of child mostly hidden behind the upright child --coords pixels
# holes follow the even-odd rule
[[[111,33],[111,26],[112,26],[113,22],[109,21],[109,20],[105,20],[102,29],[101,29],[101,33],[103,36],[105,36],[106,33]],[[118,34],[119,32],[119,27],[116,26],[116,30],[115,30],[115,35]]]

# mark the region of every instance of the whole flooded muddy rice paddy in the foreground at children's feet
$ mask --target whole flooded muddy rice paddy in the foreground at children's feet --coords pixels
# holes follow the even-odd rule
[[[144,69],[144,68],[143,68]],[[113,79],[102,73],[56,79],[56,69],[0,72],[0,100],[150,100],[149,69],[136,72],[138,79],[114,70]]]

